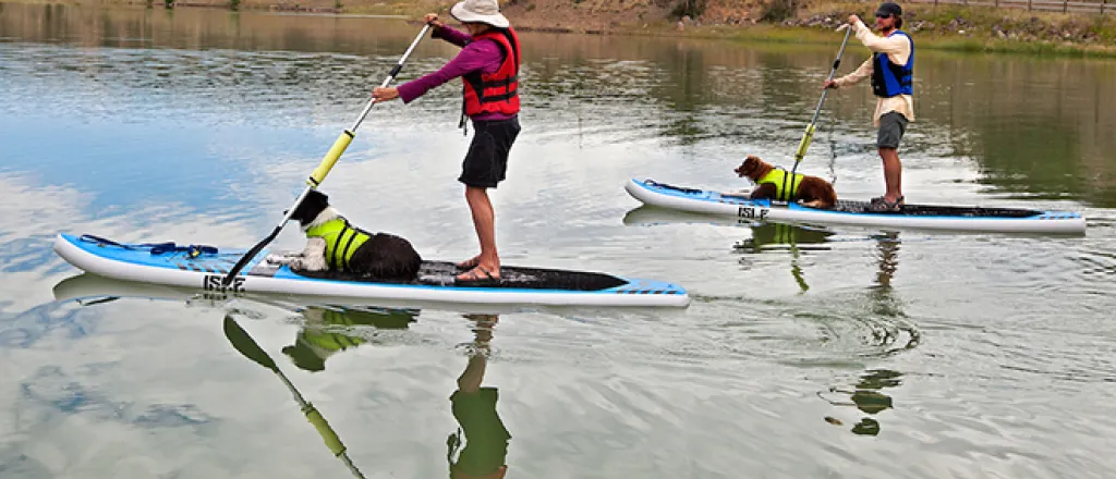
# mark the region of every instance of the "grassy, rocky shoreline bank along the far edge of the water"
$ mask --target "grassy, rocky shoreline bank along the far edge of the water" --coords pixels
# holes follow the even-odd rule
[[[4,0],[12,3],[83,6],[78,0]],[[341,3],[339,0],[309,0],[309,4],[273,4],[275,0],[233,0],[238,11],[290,16],[337,18],[394,18],[417,25],[423,13],[449,17],[452,0],[386,0],[375,3]],[[375,1],[375,0],[373,0]],[[334,6],[327,6],[333,3]],[[743,16],[728,16],[728,21],[671,18],[664,9],[628,8],[613,11],[585,11],[574,0],[502,1],[504,14],[520,31],[603,35],[626,37],[666,37],[729,40],[745,43],[830,45],[843,33],[836,28],[857,12],[868,18],[876,2],[831,2],[806,7],[791,18],[775,22]],[[340,8],[337,8],[340,6]],[[541,8],[537,8],[541,6]],[[103,0],[99,8],[157,8],[162,1]],[[232,10],[229,0],[185,0],[179,8]],[[1116,6],[1114,6],[1116,10]],[[676,18],[676,17],[675,17]],[[576,19],[575,26],[555,19]],[[722,19],[723,20],[723,19]],[[904,30],[918,47],[953,52],[1012,53],[1041,57],[1116,58],[1116,14],[1048,13],[1021,9],[964,7],[958,4],[910,3],[904,6]],[[869,25],[870,27],[870,25]],[[855,39],[850,39],[850,42]]]

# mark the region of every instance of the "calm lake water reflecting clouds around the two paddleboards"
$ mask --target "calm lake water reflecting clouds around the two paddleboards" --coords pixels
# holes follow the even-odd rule
[[[748,154],[790,164],[839,38],[525,33],[523,133],[494,195],[504,263],[674,281],[694,302],[465,317],[205,301],[79,276],[50,250],[60,231],[254,242],[417,27],[0,8],[0,477],[349,475],[227,314],[367,477],[449,477],[460,427],[451,458],[474,476],[1116,468],[1116,62],[920,52],[908,201],[1074,209],[1083,236],[748,227],[636,208],[624,180],[737,188]],[[404,79],[453,52],[424,41]],[[431,258],[474,252],[456,88],[377,106],[324,186]],[[881,193],[868,88],[826,105],[802,169]]]

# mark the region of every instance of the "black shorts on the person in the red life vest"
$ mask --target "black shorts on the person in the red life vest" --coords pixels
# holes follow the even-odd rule
[[[519,116],[506,120],[473,121],[473,141],[461,164],[459,182],[496,188],[508,174],[508,154],[519,136]]]

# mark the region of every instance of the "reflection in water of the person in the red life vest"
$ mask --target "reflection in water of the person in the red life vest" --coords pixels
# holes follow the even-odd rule
[[[458,431],[446,439],[445,459],[451,479],[497,479],[508,473],[508,441],[511,433],[500,420],[496,403],[496,388],[481,387],[488,365],[492,328],[498,316],[491,314],[465,315],[475,322],[474,339],[470,344],[469,363],[458,378],[458,390],[450,395]],[[461,449],[462,436],[465,447]],[[458,453],[456,460],[453,456]]]

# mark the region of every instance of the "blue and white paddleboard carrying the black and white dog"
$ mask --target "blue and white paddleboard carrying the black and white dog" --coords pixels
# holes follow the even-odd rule
[[[223,286],[228,272],[247,251],[174,243],[122,244],[93,235],[60,234],[55,240],[55,252],[85,272],[206,292],[492,305],[690,304],[690,295],[679,285],[604,273],[502,266],[496,284],[455,284],[460,271],[453,263],[424,261],[417,281],[391,283],[336,273],[298,273],[277,261],[285,252],[269,250],[257,254],[229,286]]]

